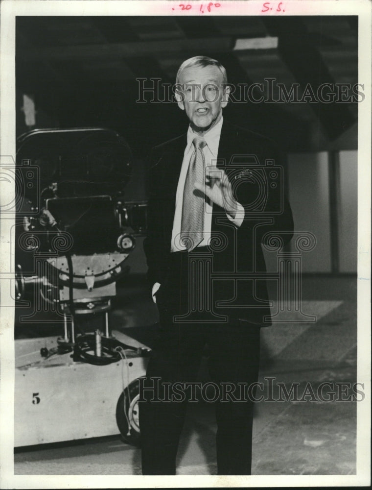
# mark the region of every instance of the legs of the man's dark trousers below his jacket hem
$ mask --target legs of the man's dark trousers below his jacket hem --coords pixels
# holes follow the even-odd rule
[[[229,324],[176,323],[160,308],[160,338],[152,350],[144,382],[144,387],[154,389],[143,390],[144,401],[139,404],[143,475],[175,474],[186,413],[187,396],[182,402],[171,400],[154,378],[160,377],[161,383],[195,381],[207,344],[209,374],[221,387],[220,393],[220,383],[248,386],[258,377],[259,334],[259,327],[238,320]],[[219,475],[250,475],[253,402],[227,398],[215,401],[217,471]]]

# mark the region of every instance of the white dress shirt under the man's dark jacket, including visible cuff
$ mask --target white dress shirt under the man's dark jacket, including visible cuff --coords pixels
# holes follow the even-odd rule
[[[218,145],[220,142],[221,129],[222,129],[223,118],[221,117],[220,121],[213,126],[207,133],[203,135],[207,145],[202,149],[204,152],[204,158],[207,167],[216,167],[216,160],[218,154]],[[181,233],[181,221],[182,221],[182,203],[184,197],[184,188],[186,182],[186,174],[188,170],[188,166],[191,160],[192,153],[194,152],[194,145],[192,143],[195,136],[199,136],[197,133],[191,129],[191,126],[188,126],[187,131],[187,145],[185,148],[184,159],[182,161],[182,167],[180,172],[180,177],[178,180],[177,192],[176,192],[176,210],[174,213],[173,219],[173,230],[172,230],[172,242],[171,242],[171,252],[176,252],[180,250],[186,250],[186,247],[182,244],[180,240]],[[209,244],[210,233],[211,233],[211,225],[212,225],[212,203],[208,198],[205,200],[204,206],[204,238],[202,242],[198,246],[205,246]],[[232,221],[236,226],[240,226],[244,219],[244,209],[238,204],[238,211],[233,219],[229,214],[227,217],[230,221]]]

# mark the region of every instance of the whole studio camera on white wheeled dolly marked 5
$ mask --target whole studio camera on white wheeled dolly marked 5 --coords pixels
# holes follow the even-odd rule
[[[111,332],[108,315],[146,232],[146,202],[125,201],[130,148],[105,128],[35,129],[17,143],[15,446],[117,429],[137,443],[149,349]],[[98,317],[102,329],[79,327]],[[22,338],[30,325],[47,335]]]

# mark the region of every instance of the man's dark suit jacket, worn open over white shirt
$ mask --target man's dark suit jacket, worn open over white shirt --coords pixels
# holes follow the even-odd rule
[[[162,285],[159,298],[157,295],[159,307],[173,300],[178,303],[178,293],[182,290],[180,281],[174,279],[174,253],[170,252],[170,247],[176,190],[186,144],[187,136],[183,134],[153,148],[150,156],[148,234],[144,250],[151,285],[155,282]],[[268,139],[224,121],[217,167],[227,173],[237,201],[245,208],[245,217],[236,229],[225,210],[213,205],[212,241],[222,239],[225,244],[212,252],[213,308],[218,314],[258,325],[270,324],[270,321],[263,322],[263,318],[270,315],[270,308],[262,238],[267,232],[275,232],[285,245],[293,232],[283,176],[280,168],[272,166],[273,162],[275,167],[280,165],[277,150]],[[280,235],[279,232],[285,233]],[[241,276],[252,272],[256,274],[255,279],[252,275]],[[181,296],[186,296],[184,293]]]

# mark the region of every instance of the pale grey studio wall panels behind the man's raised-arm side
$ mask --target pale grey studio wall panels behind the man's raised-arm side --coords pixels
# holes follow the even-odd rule
[[[302,271],[356,273],[357,151],[336,152],[334,167],[329,152],[289,154],[288,189],[295,230],[316,237]]]

